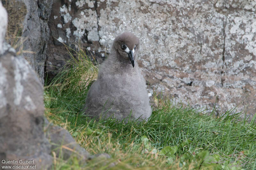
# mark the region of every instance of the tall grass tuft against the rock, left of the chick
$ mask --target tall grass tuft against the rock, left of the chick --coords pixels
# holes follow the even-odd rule
[[[44,96],[48,99],[45,100],[48,113],[46,115],[56,116],[58,120],[67,116],[77,118],[85,102],[89,85],[98,75],[98,68],[93,65],[83,48],[66,48],[71,59],[66,61],[49,85],[44,86]]]

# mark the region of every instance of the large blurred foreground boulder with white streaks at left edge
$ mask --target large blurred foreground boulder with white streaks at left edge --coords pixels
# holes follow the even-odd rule
[[[6,51],[0,56],[1,160],[27,159],[34,162],[12,165],[51,167],[51,146],[44,137],[43,116],[40,80],[22,56]]]

